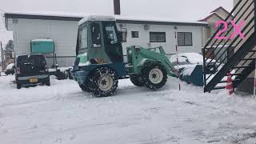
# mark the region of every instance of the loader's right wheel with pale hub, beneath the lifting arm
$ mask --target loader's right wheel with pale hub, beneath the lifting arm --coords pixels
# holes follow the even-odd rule
[[[158,90],[167,82],[166,69],[158,63],[146,63],[142,68],[144,85],[151,90]]]

